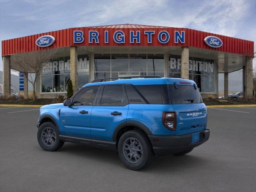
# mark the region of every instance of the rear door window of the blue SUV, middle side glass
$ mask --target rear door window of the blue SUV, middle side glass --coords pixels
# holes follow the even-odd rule
[[[125,106],[126,98],[122,85],[104,86],[101,106]]]

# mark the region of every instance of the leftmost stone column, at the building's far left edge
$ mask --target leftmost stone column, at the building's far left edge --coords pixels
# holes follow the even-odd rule
[[[4,98],[11,94],[10,56],[3,56],[3,92]]]

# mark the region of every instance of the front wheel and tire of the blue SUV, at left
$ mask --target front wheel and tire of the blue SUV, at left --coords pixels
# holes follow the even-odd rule
[[[43,150],[56,151],[64,144],[59,135],[58,128],[52,122],[45,122],[38,128],[37,140]]]

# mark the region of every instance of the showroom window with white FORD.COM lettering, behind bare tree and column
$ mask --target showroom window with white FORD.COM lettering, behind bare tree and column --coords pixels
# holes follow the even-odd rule
[[[78,56],[78,88],[89,82],[89,55]],[[66,92],[70,80],[70,57],[53,58],[42,69],[41,92]]]

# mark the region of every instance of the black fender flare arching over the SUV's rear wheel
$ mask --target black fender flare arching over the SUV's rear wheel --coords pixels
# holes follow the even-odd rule
[[[140,122],[136,122],[136,121],[126,121],[126,122],[122,122],[120,123],[116,129],[114,130],[114,133],[113,133],[113,141],[116,141],[116,138],[118,136],[118,132],[126,127],[126,126],[134,126],[134,127],[138,127],[140,129],[142,129],[147,135],[152,135],[152,132],[142,123]]]

